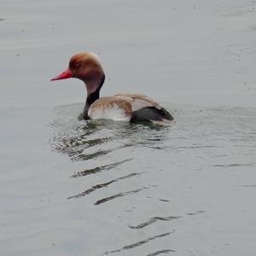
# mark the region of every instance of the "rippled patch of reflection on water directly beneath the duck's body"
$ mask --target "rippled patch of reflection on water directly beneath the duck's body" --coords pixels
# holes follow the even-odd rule
[[[167,128],[160,125],[133,125],[109,120],[76,121],[70,125],[55,122],[52,145],[71,160],[93,160],[114,150],[132,146],[158,147],[166,139]]]

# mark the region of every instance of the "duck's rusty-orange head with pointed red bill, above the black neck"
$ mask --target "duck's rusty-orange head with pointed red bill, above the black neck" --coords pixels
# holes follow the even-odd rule
[[[101,88],[105,75],[97,55],[90,52],[73,55],[68,67],[51,81],[70,78],[84,81],[88,94]]]

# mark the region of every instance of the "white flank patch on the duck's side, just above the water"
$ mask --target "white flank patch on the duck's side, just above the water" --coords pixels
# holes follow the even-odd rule
[[[115,121],[130,121],[131,117],[125,114],[124,109],[114,104],[113,108],[89,109],[88,115],[91,119],[112,119]]]

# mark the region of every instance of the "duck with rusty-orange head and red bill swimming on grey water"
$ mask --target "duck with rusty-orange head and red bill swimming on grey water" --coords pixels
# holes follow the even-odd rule
[[[51,81],[80,79],[84,82],[87,97],[82,116],[84,119],[112,119],[131,123],[166,123],[172,114],[148,96],[139,93],[120,93],[100,97],[105,73],[99,57],[92,52],[73,55],[68,67]]]

